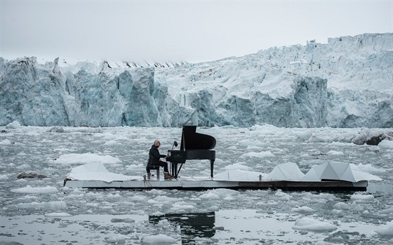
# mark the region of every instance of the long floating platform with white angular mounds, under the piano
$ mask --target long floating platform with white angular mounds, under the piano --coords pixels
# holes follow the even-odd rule
[[[340,173],[339,173],[340,172]],[[340,175],[340,177],[338,177]],[[368,180],[381,180],[369,173],[354,171],[349,164],[331,163],[314,166],[306,174],[293,163],[279,164],[269,174],[254,171],[227,170],[214,178],[179,177],[147,180],[146,176],[110,173],[102,164],[85,164],[72,169],[64,180],[65,187],[94,189],[177,189],[208,190],[226,188],[272,190],[364,191]]]

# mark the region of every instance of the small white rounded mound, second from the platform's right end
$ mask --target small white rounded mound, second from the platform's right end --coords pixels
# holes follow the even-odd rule
[[[305,176],[293,162],[278,164],[263,180],[301,180]]]

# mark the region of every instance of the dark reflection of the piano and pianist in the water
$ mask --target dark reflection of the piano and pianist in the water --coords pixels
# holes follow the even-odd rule
[[[168,213],[161,216],[149,216],[149,222],[158,224],[168,220],[180,225],[182,244],[194,242],[195,237],[213,237],[215,235],[215,212],[208,213]]]

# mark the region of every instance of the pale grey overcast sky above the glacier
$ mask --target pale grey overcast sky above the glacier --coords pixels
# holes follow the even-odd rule
[[[8,60],[203,62],[393,32],[393,0],[0,1]]]

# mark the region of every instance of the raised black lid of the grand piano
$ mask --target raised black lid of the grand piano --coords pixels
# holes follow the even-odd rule
[[[212,150],[214,147],[213,136],[196,133],[196,126],[183,126],[180,150]]]

